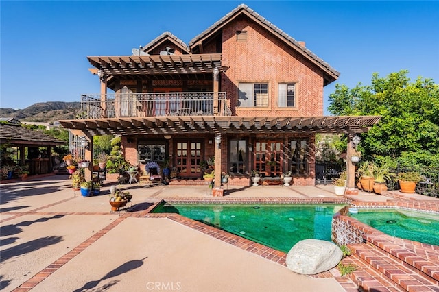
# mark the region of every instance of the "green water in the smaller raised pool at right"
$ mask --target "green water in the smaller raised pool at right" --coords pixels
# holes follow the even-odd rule
[[[439,215],[396,209],[360,209],[351,217],[390,236],[439,245]]]

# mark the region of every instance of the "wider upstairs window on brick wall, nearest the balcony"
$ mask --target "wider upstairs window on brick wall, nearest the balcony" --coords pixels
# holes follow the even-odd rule
[[[239,83],[238,106],[243,108],[268,107],[268,83]]]

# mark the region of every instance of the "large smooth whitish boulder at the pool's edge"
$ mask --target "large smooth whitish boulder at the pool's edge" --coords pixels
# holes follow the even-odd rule
[[[322,273],[335,267],[343,258],[340,247],[329,241],[305,239],[287,254],[288,269],[307,275]]]

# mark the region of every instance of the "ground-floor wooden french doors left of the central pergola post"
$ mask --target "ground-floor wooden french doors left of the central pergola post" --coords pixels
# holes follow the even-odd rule
[[[178,175],[182,178],[200,178],[204,147],[198,139],[179,139],[176,141],[176,167]]]

